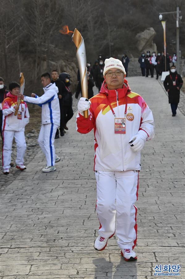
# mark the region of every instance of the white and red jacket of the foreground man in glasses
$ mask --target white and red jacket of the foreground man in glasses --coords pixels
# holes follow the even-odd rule
[[[80,113],[77,115],[77,131],[87,134],[94,128],[94,170],[140,170],[141,154],[132,151],[129,141],[137,133],[144,134],[147,139],[154,137],[153,115],[143,98],[130,91],[127,80],[124,80],[123,88],[117,90],[108,90],[104,81],[99,94],[90,101],[89,118]],[[109,102],[116,117],[124,117],[127,102],[126,134],[114,133],[115,117]]]

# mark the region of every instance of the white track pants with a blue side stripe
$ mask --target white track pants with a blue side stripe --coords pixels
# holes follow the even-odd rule
[[[57,128],[57,125],[49,123],[42,125],[40,129],[38,143],[46,157],[47,166],[55,165],[54,140]]]

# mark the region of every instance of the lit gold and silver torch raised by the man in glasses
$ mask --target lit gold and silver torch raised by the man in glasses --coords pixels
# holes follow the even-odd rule
[[[88,99],[86,48],[85,48],[83,37],[76,28],[74,30],[72,39],[75,46],[77,47],[76,57],[77,57],[78,67],[80,72],[82,97]],[[84,111],[84,117],[88,118],[88,110]]]

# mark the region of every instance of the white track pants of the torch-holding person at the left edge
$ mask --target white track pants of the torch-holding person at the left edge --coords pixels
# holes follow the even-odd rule
[[[24,131],[6,131],[2,132],[3,136],[3,147],[2,147],[2,166],[4,169],[10,168],[11,162],[11,148],[13,138],[15,138],[16,146],[17,146],[17,158],[15,160],[17,165],[24,163],[24,153],[26,150],[26,142]]]

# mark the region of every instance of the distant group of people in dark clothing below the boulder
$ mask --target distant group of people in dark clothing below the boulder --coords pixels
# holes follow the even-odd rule
[[[158,52],[156,55],[155,51],[150,54],[150,51],[141,53],[141,56],[138,59],[141,68],[141,74],[143,77],[148,78],[150,75],[153,78],[154,70],[156,71],[156,79],[162,75],[162,72],[167,72],[170,70],[171,65],[176,65],[177,56],[176,53],[171,57],[168,53],[166,53],[166,63],[165,63],[165,53]],[[171,65],[170,65],[171,64]]]

